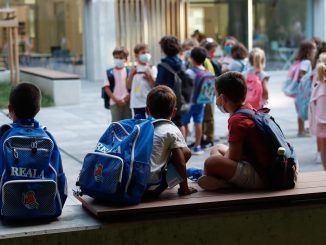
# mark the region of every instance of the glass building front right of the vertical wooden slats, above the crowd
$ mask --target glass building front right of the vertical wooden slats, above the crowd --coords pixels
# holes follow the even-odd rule
[[[189,32],[199,30],[219,43],[231,35],[248,46],[248,2],[190,0]],[[287,69],[300,42],[312,38],[312,5],[312,0],[252,1],[252,44],[266,51],[267,69]]]

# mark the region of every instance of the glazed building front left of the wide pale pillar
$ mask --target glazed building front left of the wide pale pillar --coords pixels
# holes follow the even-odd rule
[[[83,0],[0,0],[16,9],[21,66],[41,66],[84,76]],[[7,31],[0,32],[8,66]]]

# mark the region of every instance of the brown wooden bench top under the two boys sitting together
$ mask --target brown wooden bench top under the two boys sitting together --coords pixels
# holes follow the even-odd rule
[[[240,191],[220,190],[207,192],[195,183],[191,184],[199,191],[191,196],[180,197],[176,189],[167,190],[153,201],[139,205],[117,207],[99,203],[88,196],[76,196],[83,207],[98,218],[112,216],[185,213],[208,211],[211,209],[243,209],[270,207],[275,205],[295,205],[302,202],[326,201],[326,172],[302,173],[298,177],[295,189],[284,191]]]

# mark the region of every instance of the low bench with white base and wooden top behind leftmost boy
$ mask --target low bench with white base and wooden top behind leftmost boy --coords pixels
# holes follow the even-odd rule
[[[20,69],[22,81],[34,83],[42,92],[51,96],[55,105],[75,105],[80,103],[81,81],[79,76],[41,67]]]

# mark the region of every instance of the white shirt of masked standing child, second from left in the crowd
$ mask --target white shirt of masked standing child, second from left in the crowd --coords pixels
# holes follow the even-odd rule
[[[150,66],[138,65],[136,70],[137,74],[134,75],[131,85],[130,108],[145,108],[147,95],[151,91],[151,86],[149,81],[144,79],[143,72],[149,70],[155,80],[157,68],[155,66],[151,68]]]

